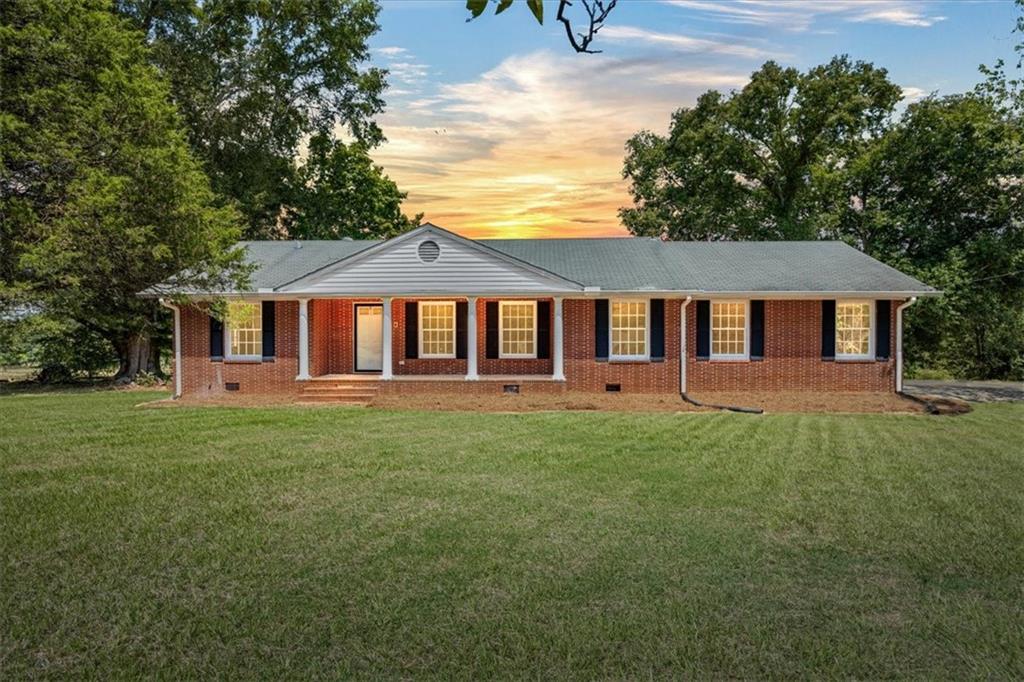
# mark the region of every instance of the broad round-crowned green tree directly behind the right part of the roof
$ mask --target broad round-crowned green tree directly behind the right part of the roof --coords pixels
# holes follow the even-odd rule
[[[815,173],[881,134],[900,89],[847,57],[801,73],[765,63],[738,92],[712,90],[672,117],[668,136],[626,145],[634,235],[671,239],[820,237]]]

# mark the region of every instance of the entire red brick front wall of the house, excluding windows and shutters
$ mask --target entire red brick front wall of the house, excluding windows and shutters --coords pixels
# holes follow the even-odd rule
[[[452,299],[444,299],[452,300]],[[310,301],[310,373],[348,374],[352,371],[353,300]],[[366,301],[374,302],[374,301]],[[891,318],[891,357],[887,361],[824,361],[820,353],[821,303],[806,301],[765,302],[765,359],[716,361],[696,359],[696,306],[687,308],[687,388],[708,391],[892,391],[895,389],[896,306]],[[181,310],[183,392],[206,395],[223,391],[227,382],[238,382],[241,393],[296,393],[298,374],[298,302],[276,303],[276,353],[273,363],[218,361],[209,358],[209,319],[204,310],[184,306]],[[552,305],[552,312],[554,306]],[[679,390],[678,300],[667,300],[665,310],[666,359],[660,363],[615,363],[594,359],[594,301],[563,302],[565,326],[564,384],[523,381],[524,390],[603,391],[606,384],[620,384],[624,392],[675,393]],[[550,375],[551,359],[487,359],[486,299],[477,301],[478,370],[487,375]],[[466,373],[465,359],[407,358],[404,300],[392,301],[392,365],[398,376],[454,375],[454,382],[429,384],[395,382],[388,390],[459,390],[466,387],[458,377]],[[552,332],[554,321],[552,321]],[[520,383],[520,382],[517,382]],[[501,382],[481,382],[466,390],[500,391]]]

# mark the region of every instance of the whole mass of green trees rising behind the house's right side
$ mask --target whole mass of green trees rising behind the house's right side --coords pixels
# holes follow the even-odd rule
[[[635,235],[844,240],[944,291],[908,317],[911,367],[1024,377],[1024,128],[1001,65],[975,92],[896,114],[885,71],[768,62],[668,136],[627,143]]]

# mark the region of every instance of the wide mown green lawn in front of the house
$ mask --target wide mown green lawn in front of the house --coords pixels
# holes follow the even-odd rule
[[[1024,676],[1024,404],[0,397],[0,673]]]

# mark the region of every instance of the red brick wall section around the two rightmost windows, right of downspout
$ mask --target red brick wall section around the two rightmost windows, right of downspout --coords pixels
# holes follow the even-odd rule
[[[697,360],[696,304],[686,309],[687,392],[700,391],[894,391],[896,307],[890,313],[886,361],[821,359],[821,301],[765,301],[763,360]],[[679,308],[678,302],[666,305]],[[668,327],[668,325],[667,325]],[[678,318],[676,336],[679,335]],[[678,352],[678,351],[677,351]]]

